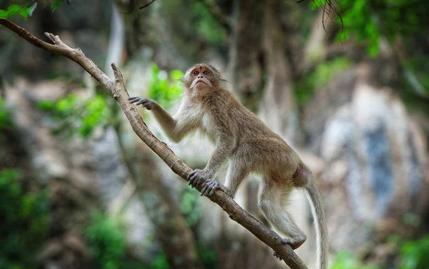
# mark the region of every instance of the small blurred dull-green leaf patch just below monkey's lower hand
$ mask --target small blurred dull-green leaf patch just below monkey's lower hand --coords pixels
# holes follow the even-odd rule
[[[180,209],[189,226],[197,224],[203,214],[198,198],[199,192],[195,189],[186,188],[182,194]]]

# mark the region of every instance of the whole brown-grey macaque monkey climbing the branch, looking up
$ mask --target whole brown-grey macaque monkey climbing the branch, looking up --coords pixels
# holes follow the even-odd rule
[[[153,100],[140,97],[129,100],[151,110],[171,140],[179,142],[186,134],[198,130],[216,145],[207,166],[203,170],[195,169],[189,175],[189,185],[202,186],[203,195],[213,195],[220,188],[214,177],[229,160],[225,184],[228,195],[234,198],[238,186],[249,173],[261,174],[258,205],[268,221],[288,236],[282,243],[293,249],[301,246],[307,237],[285,207],[292,189],[306,190],[317,222],[319,268],[326,269],[325,214],[309,168],[278,134],[225,90],[225,80],[216,68],[196,64],[186,71],[182,81],[185,92],[174,118]]]

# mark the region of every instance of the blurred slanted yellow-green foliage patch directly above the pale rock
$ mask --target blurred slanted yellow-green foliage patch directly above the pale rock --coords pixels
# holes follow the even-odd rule
[[[314,94],[314,90],[326,85],[331,79],[351,65],[346,58],[334,58],[319,64],[313,72],[304,76],[295,87],[295,98],[298,104],[304,104]]]

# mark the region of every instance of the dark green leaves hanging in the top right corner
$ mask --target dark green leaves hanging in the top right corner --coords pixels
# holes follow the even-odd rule
[[[344,32],[366,42],[370,56],[376,56],[383,36],[393,41],[397,36],[423,35],[422,25],[429,24],[429,2],[421,0],[341,0]],[[426,29],[427,30],[427,29]],[[427,32],[427,31],[426,31]]]

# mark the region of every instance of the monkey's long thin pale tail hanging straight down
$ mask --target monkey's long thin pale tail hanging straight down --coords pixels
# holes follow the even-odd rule
[[[309,181],[305,189],[307,190],[307,198],[310,201],[311,212],[315,221],[318,269],[326,269],[328,266],[328,230],[326,228],[325,210],[314,179]]]

